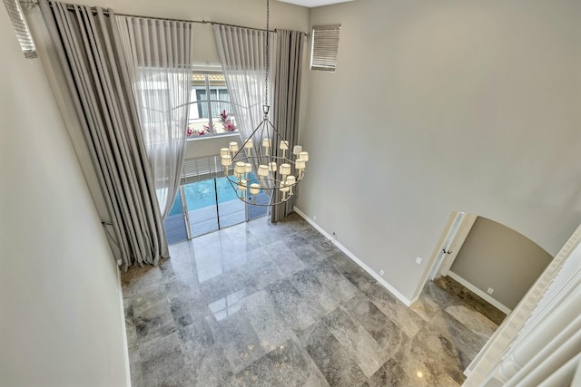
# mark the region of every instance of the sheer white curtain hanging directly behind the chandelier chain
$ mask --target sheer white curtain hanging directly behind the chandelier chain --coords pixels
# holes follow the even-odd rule
[[[265,31],[218,24],[214,25],[214,34],[236,123],[242,140],[246,140],[263,117],[267,34]],[[274,58],[275,34],[269,35],[269,56]],[[270,80],[271,74],[272,71],[269,72]],[[271,82],[269,87],[272,87]],[[268,104],[271,105],[271,92],[269,94]]]

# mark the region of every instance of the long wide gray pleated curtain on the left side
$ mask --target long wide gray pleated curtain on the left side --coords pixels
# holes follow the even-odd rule
[[[169,256],[113,11],[40,0],[112,218],[123,270]]]

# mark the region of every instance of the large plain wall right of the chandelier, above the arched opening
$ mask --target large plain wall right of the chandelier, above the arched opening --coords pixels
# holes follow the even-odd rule
[[[337,72],[307,72],[298,208],[409,298],[452,210],[555,255],[581,222],[580,16],[575,0],[314,9],[342,30]]]

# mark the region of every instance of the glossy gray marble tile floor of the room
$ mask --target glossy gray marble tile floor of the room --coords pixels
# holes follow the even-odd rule
[[[323,242],[261,218],[130,268],[133,387],[461,385],[497,325],[433,283],[406,307]]]

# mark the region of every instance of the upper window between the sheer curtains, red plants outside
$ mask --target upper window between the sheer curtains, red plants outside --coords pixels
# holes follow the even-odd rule
[[[238,131],[222,73],[193,73],[188,138]]]

